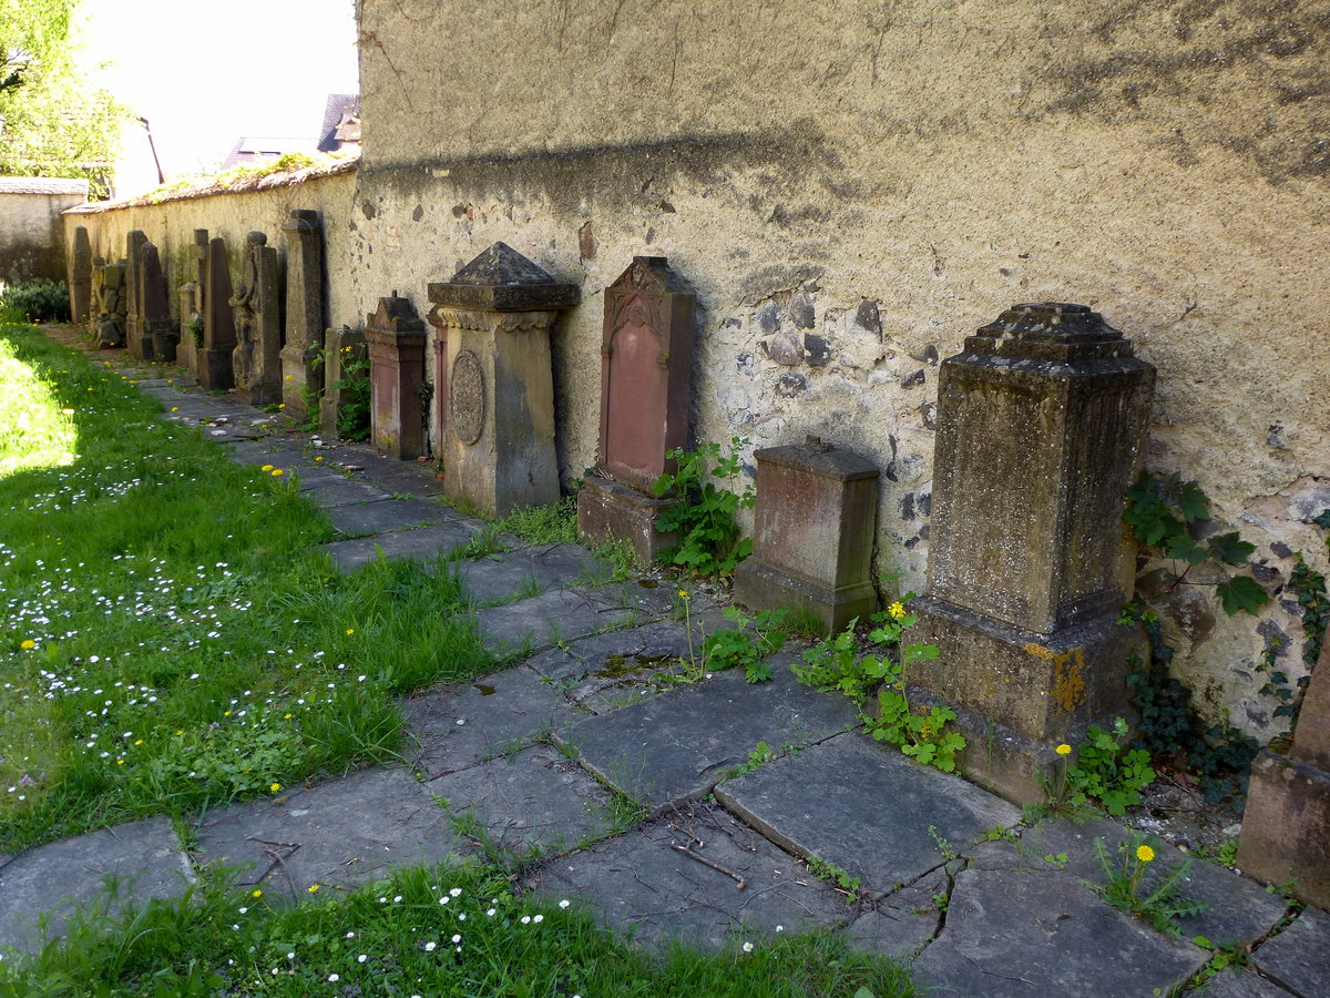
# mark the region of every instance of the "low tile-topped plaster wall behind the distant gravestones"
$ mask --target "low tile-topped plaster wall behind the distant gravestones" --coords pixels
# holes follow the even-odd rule
[[[161,254],[168,302],[174,314],[180,303],[178,289],[194,279],[194,229],[207,229],[209,238],[226,240],[231,277],[238,279],[247,233],[265,233],[267,245],[277,249],[285,269],[282,222],[293,208],[321,212],[330,313],[326,318],[329,325],[346,322],[352,327],[363,326],[364,317],[358,317],[351,294],[347,248],[350,233],[346,218],[355,194],[354,168],[342,166],[334,173],[298,170],[247,184],[247,189],[234,192],[180,192],[156,201],[136,198],[86,205],[65,213],[65,238],[73,245],[74,228],[86,226],[93,255],[114,262],[125,255],[125,237],[134,229],[142,229]]]

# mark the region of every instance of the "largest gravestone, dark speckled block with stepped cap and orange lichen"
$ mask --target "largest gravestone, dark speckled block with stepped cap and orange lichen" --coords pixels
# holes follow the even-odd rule
[[[967,777],[1017,802],[1057,743],[1129,715],[1138,628],[1123,523],[1154,369],[1083,305],[1016,305],[947,358],[938,387],[928,593],[908,681],[950,703]]]

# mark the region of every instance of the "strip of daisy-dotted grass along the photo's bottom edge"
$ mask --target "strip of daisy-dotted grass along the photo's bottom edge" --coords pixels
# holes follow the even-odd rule
[[[815,934],[738,935],[720,954],[630,949],[565,900],[513,896],[493,868],[402,872],[291,908],[205,880],[118,919],[76,917],[64,941],[0,963],[0,995],[912,994],[880,957]]]

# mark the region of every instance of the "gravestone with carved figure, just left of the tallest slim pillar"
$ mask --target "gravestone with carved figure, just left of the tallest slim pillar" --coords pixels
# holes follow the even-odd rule
[[[245,237],[245,277],[229,299],[235,315],[231,370],[235,391],[251,406],[282,401],[282,314],[277,250],[267,236]]]

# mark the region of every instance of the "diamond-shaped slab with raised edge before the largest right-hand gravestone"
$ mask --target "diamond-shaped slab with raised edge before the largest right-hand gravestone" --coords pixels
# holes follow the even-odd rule
[[[874,896],[916,881],[954,858],[950,850],[964,853],[986,829],[1020,821],[1000,797],[858,732],[726,780],[716,798],[790,852],[859,877]]]

